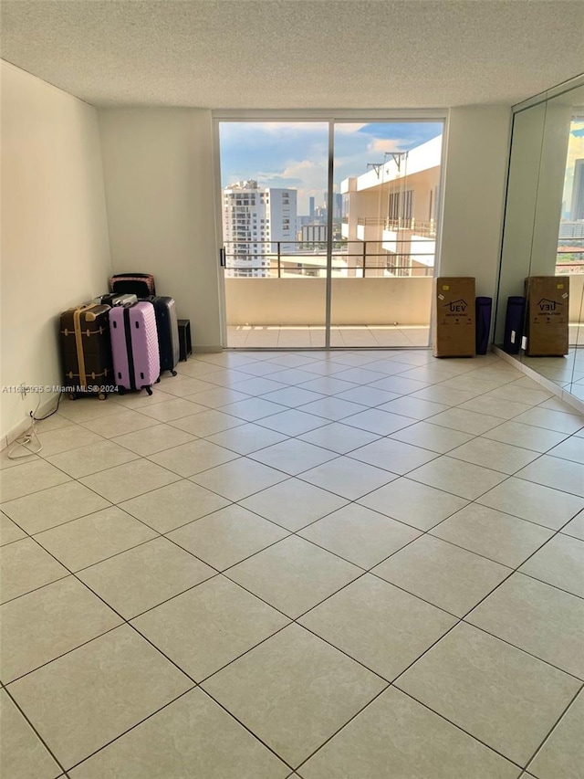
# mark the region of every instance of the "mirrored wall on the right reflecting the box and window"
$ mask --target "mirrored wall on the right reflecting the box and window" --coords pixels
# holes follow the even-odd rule
[[[536,304],[547,307],[542,322],[557,317],[556,332],[564,339],[557,348],[533,348],[533,324],[531,343],[526,342],[527,314],[516,299],[535,289],[535,282],[526,286],[530,277],[555,277],[549,283],[556,297],[532,296],[531,320]],[[509,298],[516,317],[506,332]],[[584,402],[583,321],[584,77],[579,77],[514,113],[494,341]]]

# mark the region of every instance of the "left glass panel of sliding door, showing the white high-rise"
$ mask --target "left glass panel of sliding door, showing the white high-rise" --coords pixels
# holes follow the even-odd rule
[[[325,345],[328,122],[222,121],[227,346]]]

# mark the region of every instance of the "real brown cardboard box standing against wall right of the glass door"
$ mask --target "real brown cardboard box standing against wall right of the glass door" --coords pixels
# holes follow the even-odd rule
[[[473,357],[474,279],[434,279],[432,350],[434,357]]]

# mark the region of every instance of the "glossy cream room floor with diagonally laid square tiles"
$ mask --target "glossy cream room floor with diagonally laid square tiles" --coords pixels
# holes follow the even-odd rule
[[[492,354],[179,371],[0,456],[0,774],[579,779],[584,418]]]

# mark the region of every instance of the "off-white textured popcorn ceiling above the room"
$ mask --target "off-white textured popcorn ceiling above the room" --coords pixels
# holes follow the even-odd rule
[[[3,0],[2,57],[98,106],[427,108],[584,70],[576,0]]]

